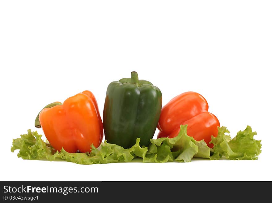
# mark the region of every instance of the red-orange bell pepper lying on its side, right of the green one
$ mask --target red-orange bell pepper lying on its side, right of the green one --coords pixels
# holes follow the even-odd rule
[[[173,138],[180,132],[180,125],[187,124],[187,134],[195,140],[204,140],[209,144],[211,136],[218,134],[219,120],[208,112],[208,103],[202,95],[196,92],[185,92],[169,101],[161,111],[158,138]]]

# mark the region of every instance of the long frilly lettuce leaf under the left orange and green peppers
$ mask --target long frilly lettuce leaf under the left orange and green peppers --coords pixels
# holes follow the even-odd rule
[[[91,146],[91,153],[68,153],[64,149],[56,151],[50,144],[41,139],[37,132],[28,130],[27,134],[21,135],[20,138],[13,139],[11,152],[19,149],[17,156],[29,160],[65,160],[78,164],[100,164],[100,163],[117,163],[130,162],[135,157],[143,158],[147,152],[147,147],[140,147],[140,139],[136,140],[135,145],[129,149],[121,146],[107,143],[105,140],[97,149]]]

